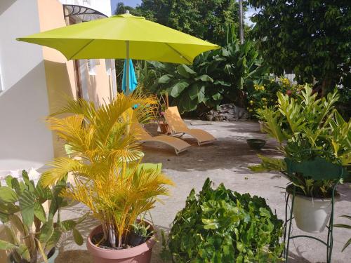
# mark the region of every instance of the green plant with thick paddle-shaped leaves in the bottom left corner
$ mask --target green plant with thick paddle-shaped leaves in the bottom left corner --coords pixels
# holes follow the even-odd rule
[[[60,196],[67,188],[66,180],[60,180],[50,189],[29,180],[25,170],[22,179],[8,175],[6,185],[0,186],[0,220],[7,236],[6,240],[0,240],[0,250],[7,250],[15,263],[36,263],[47,262],[46,255],[62,233],[73,231],[74,241],[81,245],[83,238],[76,227],[87,214],[79,220],[60,218],[61,208],[68,205]],[[47,201],[48,212],[43,206]]]

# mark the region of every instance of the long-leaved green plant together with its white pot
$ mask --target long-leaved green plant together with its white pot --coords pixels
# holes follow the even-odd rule
[[[286,158],[259,156],[263,162],[250,168],[256,172],[279,170],[286,175],[291,182],[286,190],[291,192],[292,186],[297,189],[293,209],[297,226],[307,232],[321,232],[331,215],[333,187],[340,178],[319,180],[310,175],[312,170],[320,170],[321,160],[330,163],[329,167],[340,165],[340,174],[347,174],[345,166],[351,163],[351,121],[346,122],[334,107],[337,91],[317,98],[306,85],[296,97],[283,93],[277,96],[276,107],[265,108],[259,114],[265,120],[265,131],[279,142],[279,150]],[[308,173],[289,173],[291,163],[305,165],[306,161],[315,163]]]

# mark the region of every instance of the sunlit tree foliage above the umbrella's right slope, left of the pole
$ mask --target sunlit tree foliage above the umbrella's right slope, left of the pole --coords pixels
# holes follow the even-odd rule
[[[143,0],[135,11],[148,20],[222,45],[225,25],[238,28],[238,9],[235,0]]]

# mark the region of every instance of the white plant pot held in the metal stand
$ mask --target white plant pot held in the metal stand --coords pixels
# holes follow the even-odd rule
[[[312,199],[296,194],[293,217],[299,229],[309,233],[321,233],[331,217],[331,198]]]

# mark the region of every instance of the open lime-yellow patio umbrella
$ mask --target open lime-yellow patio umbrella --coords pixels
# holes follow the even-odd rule
[[[131,58],[192,64],[200,53],[218,48],[213,43],[129,13],[60,27],[18,40],[55,48],[67,60],[126,58],[128,62]]]

